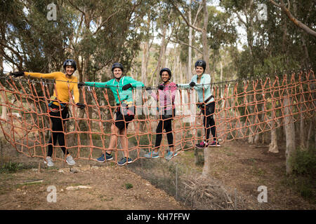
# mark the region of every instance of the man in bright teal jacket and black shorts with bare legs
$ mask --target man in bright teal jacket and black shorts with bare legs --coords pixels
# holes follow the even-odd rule
[[[133,103],[133,92],[132,88],[144,87],[144,83],[138,82],[129,76],[123,76],[124,67],[121,63],[114,63],[112,65],[112,73],[114,78],[105,83],[85,82],[84,85],[93,87],[106,87],[112,90],[117,103],[117,111],[115,112],[115,123],[111,126],[111,138],[109,148],[103,153],[98,162],[105,162],[113,160],[112,150],[115,148],[117,143],[117,136],[121,136],[121,146],[124,149],[124,158],[122,158],[118,165],[126,165],[131,163],[133,160],[129,158],[129,143],[127,140],[127,127],[131,120],[135,116],[135,106]],[[79,83],[79,85],[83,85]]]

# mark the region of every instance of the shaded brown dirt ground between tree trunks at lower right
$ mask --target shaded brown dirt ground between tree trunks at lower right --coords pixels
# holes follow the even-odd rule
[[[236,189],[238,193],[256,200],[261,193],[258,187],[266,186],[268,202],[264,209],[316,209],[316,204],[304,200],[293,186],[287,184],[285,147],[279,146],[279,153],[269,153],[268,146],[249,146],[239,140],[225,142],[222,147],[209,150],[211,176],[223,183],[226,189]],[[189,158],[187,156],[185,162],[194,163]]]

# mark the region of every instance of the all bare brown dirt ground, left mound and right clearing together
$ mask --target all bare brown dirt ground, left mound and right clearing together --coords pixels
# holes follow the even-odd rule
[[[272,154],[265,146],[233,141],[208,150],[212,151],[212,178],[225,187],[236,188],[240,194],[256,198],[258,186],[266,186],[269,209],[316,209],[315,204],[303,200],[299,193],[284,185],[287,177],[282,148],[279,153]],[[29,169],[0,174],[0,209],[194,209],[177,202],[126,166],[77,160],[74,167],[56,161],[55,168],[48,169],[41,159],[27,158],[12,151],[10,155],[2,155],[2,161],[23,162]],[[180,153],[170,162],[185,163],[197,171],[203,168],[195,165],[193,150]],[[48,202],[52,199],[49,186],[56,190],[56,202]]]

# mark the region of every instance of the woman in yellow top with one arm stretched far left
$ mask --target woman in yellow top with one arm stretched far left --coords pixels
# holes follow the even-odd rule
[[[66,156],[66,162],[68,165],[75,165],[72,155],[67,151],[65,147],[65,122],[69,118],[68,115],[68,102],[70,101],[69,91],[73,91],[74,102],[79,109],[84,109],[84,104],[79,103],[79,90],[77,87],[77,77],[73,76],[74,71],[77,70],[77,64],[73,59],[67,59],[63,63],[63,68],[65,73],[61,71],[53,73],[32,73],[24,71],[16,71],[11,73],[11,75],[18,76],[32,76],[34,78],[49,78],[55,79],[55,90],[51,101],[48,103],[49,117],[51,118],[52,130],[51,138],[48,142],[48,152],[47,157],[44,161],[48,167],[53,167],[53,145],[59,143],[62,152]],[[53,145],[52,145],[53,144]]]

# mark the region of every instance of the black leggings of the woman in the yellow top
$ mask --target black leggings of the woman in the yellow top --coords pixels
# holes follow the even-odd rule
[[[48,152],[47,152],[47,156],[52,156],[53,155],[53,145],[55,146],[57,144],[57,140],[58,140],[58,144],[60,146],[60,148],[62,149],[62,152],[65,155],[68,155],[68,151],[65,147],[65,130],[64,130],[64,125],[68,116],[68,109],[67,107],[61,111],[61,117],[60,118],[60,111],[58,112],[50,112],[49,115],[51,116],[51,123],[53,124],[52,127],[52,132],[51,132],[51,138],[49,139],[48,142]],[[53,117],[52,117],[53,116]],[[57,117],[57,118],[56,118]]]

